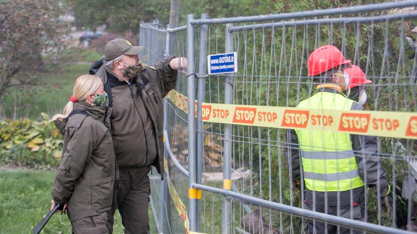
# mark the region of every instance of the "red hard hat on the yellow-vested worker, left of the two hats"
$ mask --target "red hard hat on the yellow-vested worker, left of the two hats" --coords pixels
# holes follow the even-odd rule
[[[314,49],[308,57],[308,76],[315,76],[340,64],[349,63],[334,45],[323,45]]]

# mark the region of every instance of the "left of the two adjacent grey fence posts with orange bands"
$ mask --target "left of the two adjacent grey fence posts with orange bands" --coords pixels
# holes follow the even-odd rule
[[[187,95],[188,95],[188,220],[189,230],[195,231],[195,73],[194,73],[194,27],[190,21],[193,14],[187,14]]]

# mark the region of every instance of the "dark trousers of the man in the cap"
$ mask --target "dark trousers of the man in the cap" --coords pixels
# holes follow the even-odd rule
[[[116,199],[125,233],[149,233],[149,170],[150,166],[119,169],[120,187]],[[115,211],[113,204],[107,221],[109,233],[113,232]]]

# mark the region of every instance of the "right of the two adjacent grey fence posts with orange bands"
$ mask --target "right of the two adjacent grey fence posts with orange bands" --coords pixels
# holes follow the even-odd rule
[[[208,14],[202,13],[201,19],[208,18]],[[207,36],[209,32],[209,25],[203,24],[200,28],[200,49],[198,56],[198,87],[197,87],[197,166],[196,166],[196,183],[201,183],[202,172],[202,158],[204,152],[203,140],[203,123],[202,123],[202,102],[204,102],[205,95],[205,75],[206,74],[206,59],[207,59]],[[200,231],[201,223],[201,190],[197,190],[196,200],[196,231]]]

